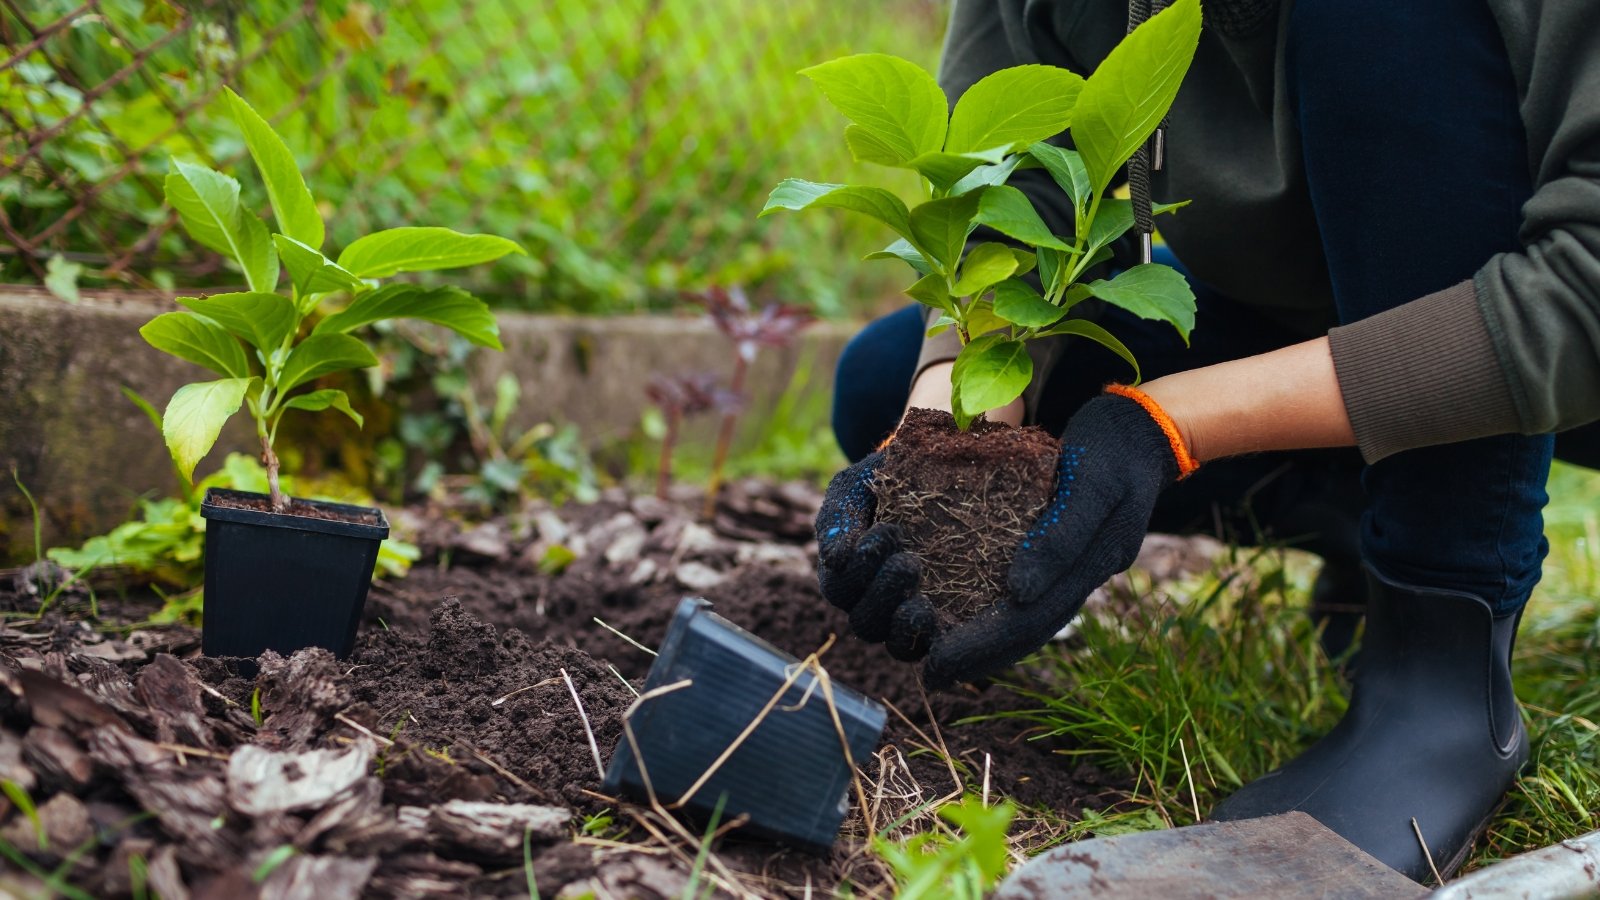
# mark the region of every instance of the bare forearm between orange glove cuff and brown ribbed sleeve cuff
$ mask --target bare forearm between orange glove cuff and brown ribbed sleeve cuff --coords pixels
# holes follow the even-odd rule
[[[1354,447],[1328,338],[1157,378],[1144,392],[1195,460],[1262,450]]]

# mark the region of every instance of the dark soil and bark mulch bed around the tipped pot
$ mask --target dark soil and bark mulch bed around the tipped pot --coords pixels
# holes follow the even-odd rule
[[[69,589],[42,618],[0,626],[0,780],[38,807],[0,799],[0,895],[50,881],[166,900],[517,897],[526,834],[542,897],[677,897],[694,846],[598,793],[584,719],[608,759],[651,663],[616,633],[654,647],[688,594],[797,657],[834,639],[829,674],[893,709],[861,761],[870,809],[853,804],[829,855],[736,833],[718,844],[709,871],[741,892],[827,895],[842,879],[886,892],[867,830],[955,793],[952,773],[1066,818],[1125,786],[1019,721],[963,722],[1019,708],[1011,692],[926,697],[915,668],[853,639],[811,575],[816,503],[752,482],[730,485],[710,524],[691,496],[621,493],[469,528],[398,511],[424,557],[374,585],[352,657],[267,653],[253,679],[200,657],[194,629],[123,628],[152,601],[102,593],[90,625]],[[19,573],[0,609],[37,610],[51,577]],[[926,826],[923,814],[898,834]],[[1016,825],[1046,826],[1029,812]]]

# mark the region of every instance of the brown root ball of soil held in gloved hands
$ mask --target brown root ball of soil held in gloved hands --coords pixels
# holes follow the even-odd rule
[[[1005,596],[1022,535],[1050,501],[1061,442],[1035,426],[910,410],[872,477],[878,522],[901,525],[922,593],[947,628]]]

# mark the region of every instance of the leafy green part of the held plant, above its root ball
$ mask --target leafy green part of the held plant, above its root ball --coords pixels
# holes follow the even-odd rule
[[[1139,364],[1099,325],[1072,317],[1099,298],[1144,319],[1170,322],[1189,340],[1195,299],[1182,274],[1155,263],[1085,282],[1134,224],[1133,203],[1107,197],[1117,171],[1166,115],[1200,38],[1200,0],[1178,0],[1133,30],[1086,80],[1053,66],[1002,69],[974,83],[952,110],[925,69],[859,54],[805,69],[851,120],[845,143],[858,162],[922,175],[923,200],[907,207],[882,187],[782,181],[762,215],[838,208],[890,226],[899,240],[867,259],[902,259],[920,275],[907,295],[955,328],[962,351],[950,402],[965,429],[1018,399],[1034,376],[1026,341],[1078,335],[1134,368]],[[1070,131],[1075,151],[1045,143]],[[1043,167],[1072,200],[1074,231],[1053,234],[1032,202],[1006,181]],[[1182,203],[1155,205],[1166,213]],[[979,226],[1011,239],[978,243]],[[1038,288],[1024,275],[1035,271]]]

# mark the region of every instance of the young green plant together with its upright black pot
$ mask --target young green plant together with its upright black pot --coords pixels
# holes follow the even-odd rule
[[[203,165],[173,160],[166,200],[200,245],[242,271],[248,290],[181,296],[139,333],[160,351],[221,375],[179,388],[166,404],[162,434],[184,479],[216,444],[222,424],[248,410],[261,440],[269,493],[211,488],[205,552],[203,647],[210,655],[256,657],[318,645],[346,655],[371,583],[378,544],[389,533],[381,509],[285,496],[274,450],[291,410],[338,410],[358,426],[344,391],[315,388],[325,375],[376,365],[352,335],[384,319],[422,319],[466,340],[501,349],[488,306],[456,287],[379,285],[398,272],[472,266],[522,248],[488,234],[443,227],[395,227],[322,255],[325,227],[283,141],[238,94],[227,91],[234,120],[256,162],[277,224],[240,202],[238,181]],[[288,274],[278,288],[280,271]],[[323,311],[334,298],[342,307]]]

